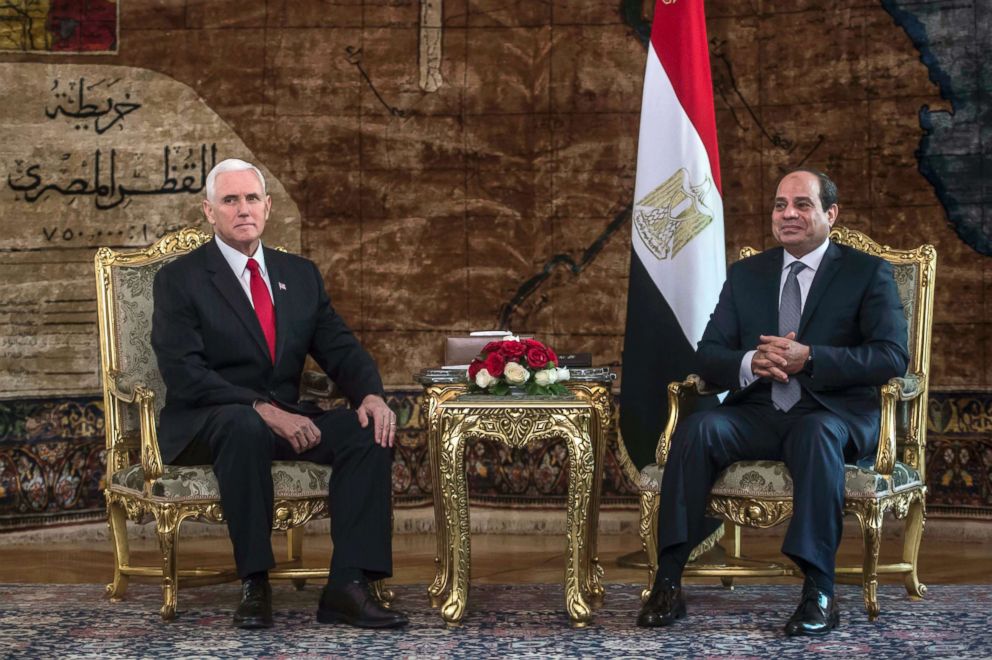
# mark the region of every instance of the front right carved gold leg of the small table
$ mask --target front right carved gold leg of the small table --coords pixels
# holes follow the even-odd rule
[[[566,438],[568,444],[568,512],[565,519],[565,534],[568,538],[565,565],[565,609],[572,625],[581,628],[592,620],[592,608],[583,596],[588,584],[589,548],[587,532],[591,515],[590,496],[595,458],[589,438],[589,414],[575,415],[578,433]],[[584,427],[583,428],[583,423]]]

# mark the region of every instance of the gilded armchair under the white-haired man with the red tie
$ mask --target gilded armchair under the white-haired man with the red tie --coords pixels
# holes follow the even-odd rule
[[[152,282],[162,265],[210,240],[210,235],[183,229],[164,236],[146,250],[97,251],[97,316],[107,433],[104,496],[114,544],[114,581],[107,585],[111,600],[124,597],[131,576],[162,581],[162,618],[176,614],[179,580],[199,584],[233,580],[233,569],[179,570],[176,552],[179,528],[186,520],[224,522],[217,480],[209,465],[171,466],[162,463],[156,421],[165,402],[165,384],[151,348]],[[305,381],[314,383],[307,374]],[[323,377],[322,374],[319,375]],[[316,390],[327,395],[330,389]],[[273,528],[285,530],[288,556],[270,572],[292,579],[302,588],[307,578],[326,577],[327,569],[304,569],[303,526],[326,518],[330,468],[303,461],[276,462]],[[127,520],[155,521],[162,562],[131,564]],[[381,584],[377,595],[382,596]]]

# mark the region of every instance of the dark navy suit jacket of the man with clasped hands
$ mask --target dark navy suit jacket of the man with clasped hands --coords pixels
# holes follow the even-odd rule
[[[730,266],[716,310],[699,342],[700,375],[731,390],[723,405],[749,396],[761,381],[740,387],[744,354],[759,335],[778,334],[783,248]],[[903,376],[909,364],[902,303],[884,259],[830,243],[816,271],[799,323],[797,341],[812,347],[803,389],[843,418],[859,452],[878,440],[878,386]]]

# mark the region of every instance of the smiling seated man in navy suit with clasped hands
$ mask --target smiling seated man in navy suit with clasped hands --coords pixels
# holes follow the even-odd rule
[[[772,233],[781,247],[733,264],[699,342],[699,374],[730,389],[717,408],[682,421],[661,484],[658,573],[641,626],[685,615],[682,570],[718,521],[705,511],[720,472],[741,460],[784,461],[793,515],[782,552],[803,571],[787,635],[839,623],[834,562],[844,464],[873,456],[878,386],[906,372],[907,329],[891,266],[831,243],[837,188],[797,170],[779,182]]]

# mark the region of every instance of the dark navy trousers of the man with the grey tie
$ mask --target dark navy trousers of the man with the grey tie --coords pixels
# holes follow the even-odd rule
[[[661,482],[658,553],[685,566],[717,527],[706,518],[710,490],[731,463],[783,461],[792,475],[793,512],[782,552],[834,577],[843,532],[844,463],[857,460],[846,423],[805,391],[791,410],[759,384],[748,399],[691,415],[679,424]]]

